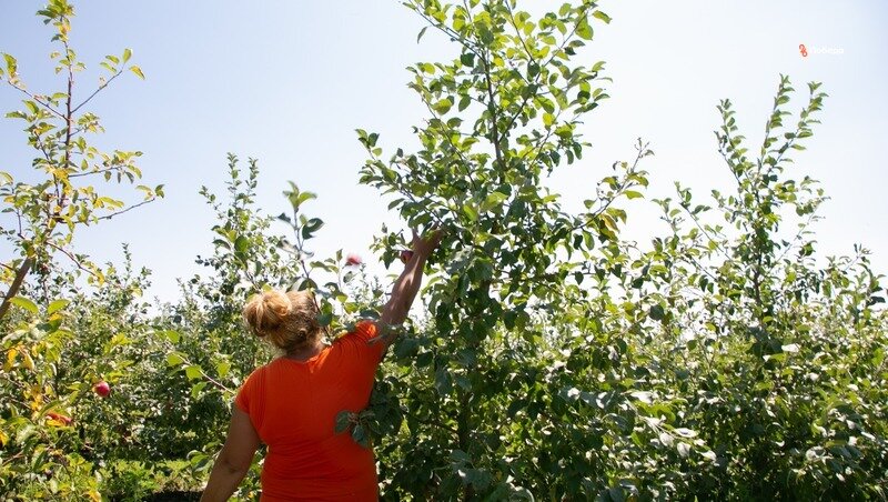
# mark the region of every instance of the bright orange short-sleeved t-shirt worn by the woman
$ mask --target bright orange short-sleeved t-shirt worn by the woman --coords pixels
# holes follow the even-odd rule
[[[384,349],[367,343],[375,335],[376,324],[362,321],[314,358],[278,358],[246,379],[234,404],[269,445],[263,501],[377,500],[373,452],[334,431],[341,411],[370,402]]]

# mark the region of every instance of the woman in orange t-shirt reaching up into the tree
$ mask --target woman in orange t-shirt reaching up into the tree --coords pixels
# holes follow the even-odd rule
[[[395,282],[379,323],[361,321],[332,345],[321,341],[311,293],[270,291],[253,298],[244,318],[254,334],[284,354],[256,369],[236,399],[229,434],[202,501],[234,493],[260,442],[269,445],[262,466],[262,501],[375,501],[373,452],[347,433],[336,434],[336,414],[366,408],[376,367],[391,338],[383,327],[401,324],[420,290],[428,254],[441,232],[413,232],[413,255]]]

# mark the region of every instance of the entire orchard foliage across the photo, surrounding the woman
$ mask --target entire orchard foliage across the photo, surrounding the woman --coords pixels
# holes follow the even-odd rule
[[[416,145],[384,154],[377,133],[357,130],[361,181],[405,227],[444,231],[425,309],[398,330],[371,405],[330,424],[374,448],[382,498],[885,500],[882,278],[861,247],[818,257],[826,195],[793,162],[817,124],[819,83],[794,111],[780,78],[760,147],[722,101],[715,145],[734,181],[705,200],[676,184],[653,202],[668,230],[634,243],[620,229],[648,183],[645,142],[603,170],[583,211],[545,187],[578,169],[579,126],[607,98],[604,63],[579,58],[609,22],[597,3],[538,17],[512,0],[404,4],[427,22],[420,40],[444,36],[458,53],[408,68],[426,108]],[[101,194],[141,177],[139,154],[91,147],[101,128],[81,107],[142,72],[130,51],[108,57],[98,90],[75,102],[73,9],[52,0],[39,13],[61,46],[63,91],[30,91],[11,56],[0,73],[24,93],[9,117],[24,121],[40,178],[0,173],[14,250],[0,309],[0,493],[185,496],[205,482],[238,388],[275,355],[243,327],[249,298],[311,289],[332,339],[374,318],[389,284],[342,251],[312,252],[324,230],[313,193],[291,183],[284,213],[258,209],[258,162],[235,155],[225,191],[200,192],[213,251],[175,301],[143,298],[139,250],[102,267],[78,253],[79,227],[163,190],[138,187],[144,200],[129,205]],[[405,244],[383,227],[374,251],[389,267]],[[255,498],[261,461],[239,499]]]

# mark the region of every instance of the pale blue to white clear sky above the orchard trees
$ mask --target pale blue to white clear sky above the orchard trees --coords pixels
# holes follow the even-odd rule
[[[404,224],[387,200],[360,185],[366,159],[354,130],[381,133],[386,151],[414,150],[411,127],[425,118],[406,88],[408,64],[455,56],[455,46],[398,1],[169,1],[75,2],[72,47],[89,66],[87,96],[98,62],[123,48],[147,76],[121,77],[91,104],[107,133],[105,149],[141,150],[144,184],[165,184],[167,198],[78,235],[78,249],[100,262],[120,262],[121,243],[137,265],[153,271],[151,295],[178,297],[178,278],[200,272],[196,255],[212,252],[212,210],[201,185],[221,193],[228,152],[261,168],[258,202],[270,214],[286,210],[287,181],[319,195],[305,207],[325,221],[314,249],[365,257],[383,273],[369,245],[386,222]],[[561,2],[518,0],[538,12]],[[51,30],[34,16],[40,1],[0,0],[0,52],[13,54],[29,88],[58,89],[48,54]],[[705,200],[730,188],[716,150],[718,101],[729,98],[740,130],[760,144],[779,74],[806,102],[808,81],[829,94],[807,150],[791,168],[821,181],[830,200],[817,223],[821,254],[849,254],[855,243],[872,251],[877,272],[888,272],[888,174],[881,148],[888,138],[888,3],[870,1],[604,0],[613,21],[596,23],[582,60],[607,62],[612,97],[586,117],[581,132],[592,143],[583,161],[547,183],[576,208],[616,160],[630,160],[636,138],[650,142],[645,159],[648,199],[673,193],[680,181]],[[799,44],[809,54],[801,57]],[[0,110],[21,107],[21,96],[0,87]],[[26,178],[33,153],[18,121],[0,119],[0,171]],[[138,199],[133,199],[137,201]],[[644,244],[664,234],[658,210],[635,200],[626,235]],[[281,229],[283,230],[283,229]],[[8,248],[0,248],[9,252]],[[6,259],[4,259],[6,260]]]

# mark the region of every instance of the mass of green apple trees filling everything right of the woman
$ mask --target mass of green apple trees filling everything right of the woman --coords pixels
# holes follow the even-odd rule
[[[714,193],[724,225],[678,185],[677,203],[658,201],[673,234],[643,251],[619,239],[618,203],[647,184],[644,143],[602,179],[588,212],[566,214],[541,187],[582,157],[576,124],[606,97],[603,64],[572,60],[608,17],[593,2],[536,21],[508,1],[408,7],[461,54],[410,69],[430,114],[416,153],[384,159],[377,135],[359,130],[371,155],[362,181],[393,194],[411,224],[447,235],[430,325],[396,343],[385,371],[405,428],[377,451],[384,494],[882,496],[865,480],[885,476],[885,416],[872,408],[884,355],[849,360],[884,345],[878,278],[865,253],[817,269],[808,223],[824,197],[785,171],[811,135],[819,86],[784,132],[793,89],[781,79],[757,159],[723,102],[718,147],[737,180]],[[785,238],[787,210],[801,222]],[[377,245],[391,260],[396,242]],[[867,398],[836,380],[869,370],[881,373]],[[813,416],[825,416],[820,429]]]

